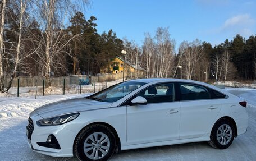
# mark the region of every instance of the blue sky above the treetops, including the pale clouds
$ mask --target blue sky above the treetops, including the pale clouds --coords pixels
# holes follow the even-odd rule
[[[215,44],[236,34],[256,34],[256,1],[92,0],[84,15],[97,17],[98,33],[113,29],[118,38],[143,44],[144,33],[168,27],[176,48],[183,40]]]

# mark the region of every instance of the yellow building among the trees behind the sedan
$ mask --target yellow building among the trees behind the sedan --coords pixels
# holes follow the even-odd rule
[[[122,73],[124,72],[124,60],[120,57],[116,57],[113,59],[109,65],[108,70],[109,73]],[[125,61],[125,75],[128,77],[143,77],[144,69],[141,67],[136,67],[132,65],[129,61]]]

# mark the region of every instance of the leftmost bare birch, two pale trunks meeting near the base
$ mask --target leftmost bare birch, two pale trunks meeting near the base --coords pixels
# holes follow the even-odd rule
[[[11,10],[14,10],[15,13],[17,14],[17,17],[13,15],[10,16],[10,19],[13,19],[14,22],[17,21],[17,31],[11,30],[13,34],[17,34],[17,42],[10,42],[10,40],[4,41],[3,39],[3,30],[4,30],[4,19],[6,15],[6,1],[3,1],[2,5],[2,14],[1,14],[1,38],[0,38],[0,46],[1,46],[1,61],[0,61],[0,68],[1,68],[1,92],[8,92],[8,90],[11,88],[12,81],[16,75],[17,69],[20,65],[20,58],[21,58],[21,48],[22,48],[22,30],[24,28],[24,22],[28,19],[28,16],[25,16],[25,11],[26,11],[26,6],[27,6],[28,1],[27,0],[17,0],[17,1],[10,1],[8,3],[9,7]],[[11,15],[11,14],[9,14]],[[3,26],[2,26],[3,25]],[[6,46],[4,45],[4,42],[11,44],[10,48],[5,48]],[[6,62],[6,66],[3,65],[3,62]],[[10,81],[8,82],[7,88],[4,89],[4,79],[5,76],[4,73],[2,72],[4,69],[3,68],[10,68],[11,66],[9,65],[10,63],[13,63],[12,67],[10,69],[11,71],[11,77]],[[8,66],[7,66],[8,65]],[[6,71],[6,70],[5,70]]]

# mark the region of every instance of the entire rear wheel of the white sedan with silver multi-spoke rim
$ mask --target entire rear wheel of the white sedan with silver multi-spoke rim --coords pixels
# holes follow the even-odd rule
[[[216,149],[226,149],[232,144],[234,135],[234,125],[228,119],[220,119],[212,128],[208,144]]]

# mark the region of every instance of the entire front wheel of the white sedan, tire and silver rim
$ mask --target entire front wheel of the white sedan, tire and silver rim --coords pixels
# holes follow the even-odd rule
[[[115,135],[103,125],[84,128],[74,144],[74,153],[79,160],[107,160],[114,150]]]

